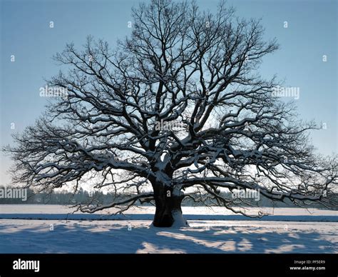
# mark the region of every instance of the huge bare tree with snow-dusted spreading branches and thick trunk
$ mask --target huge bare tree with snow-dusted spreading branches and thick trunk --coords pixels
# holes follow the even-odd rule
[[[5,148],[14,181],[115,192],[109,205],[79,206],[88,213],[155,201],[160,227],[187,224],[185,197],[242,213],[223,188],[327,201],[337,157],[314,155],[307,134],[316,125],[297,120],[295,105],[273,94],[275,78],[257,74],[277,49],[262,38],[260,21],[237,19],[223,3],[210,14],[169,0],[140,4],[133,20],[115,51],[88,37],[83,51],[68,44],[56,55],[68,72],[47,84],[68,94]]]

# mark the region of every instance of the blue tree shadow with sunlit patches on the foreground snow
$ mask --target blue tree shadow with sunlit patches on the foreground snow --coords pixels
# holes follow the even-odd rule
[[[317,231],[252,226],[149,228],[135,221],[0,223],[0,253],[334,253]],[[36,222],[36,221],[35,221]],[[282,225],[282,224],[281,224]],[[325,237],[324,237],[325,236]]]

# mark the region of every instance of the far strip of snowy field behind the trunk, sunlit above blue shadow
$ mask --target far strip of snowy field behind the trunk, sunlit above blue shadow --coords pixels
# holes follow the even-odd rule
[[[330,221],[338,222],[338,211],[317,208],[242,208],[250,215],[265,214],[263,218],[247,218],[224,207],[183,207],[188,220],[254,220],[254,221]],[[112,215],[114,209],[88,214],[61,205],[0,205],[0,219],[68,219],[68,220],[152,220],[155,207],[130,208],[123,215]]]

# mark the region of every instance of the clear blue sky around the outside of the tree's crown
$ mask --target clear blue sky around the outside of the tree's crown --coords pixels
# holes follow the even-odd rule
[[[51,59],[68,42],[81,48],[86,36],[102,38],[113,46],[130,34],[130,8],[138,1],[24,1],[0,0],[0,146],[12,143],[43,111],[39,96],[43,78],[60,69]],[[215,10],[215,0],[200,0],[200,9]],[[338,1],[227,1],[237,16],[262,18],[267,39],[276,37],[280,50],[267,56],[262,76],[277,74],[286,86],[299,87],[295,100],[300,117],[322,122],[312,132],[319,153],[338,153]],[[50,22],[53,21],[53,28]],[[287,28],[285,28],[287,21]],[[15,61],[11,61],[11,55]],[[323,55],[327,61],[323,61]],[[14,127],[14,129],[12,129]],[[1,185],[9,183],[8,157],[0,153]]]

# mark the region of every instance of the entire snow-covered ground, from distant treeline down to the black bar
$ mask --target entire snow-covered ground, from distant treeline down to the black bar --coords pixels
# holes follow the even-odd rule
[[[270,220],[248,221],[230,220],[234,215],[221,208],[185,207],[190,227],[180,229],[149,227],[151,208],[104,221],[91,215],[66,220],[68,212],[63,206],[0,206],[6,218],[0,219],[0,253],[338,253],[337,211],[275,208]],[[32,215],[43,219],[10,219]]]

